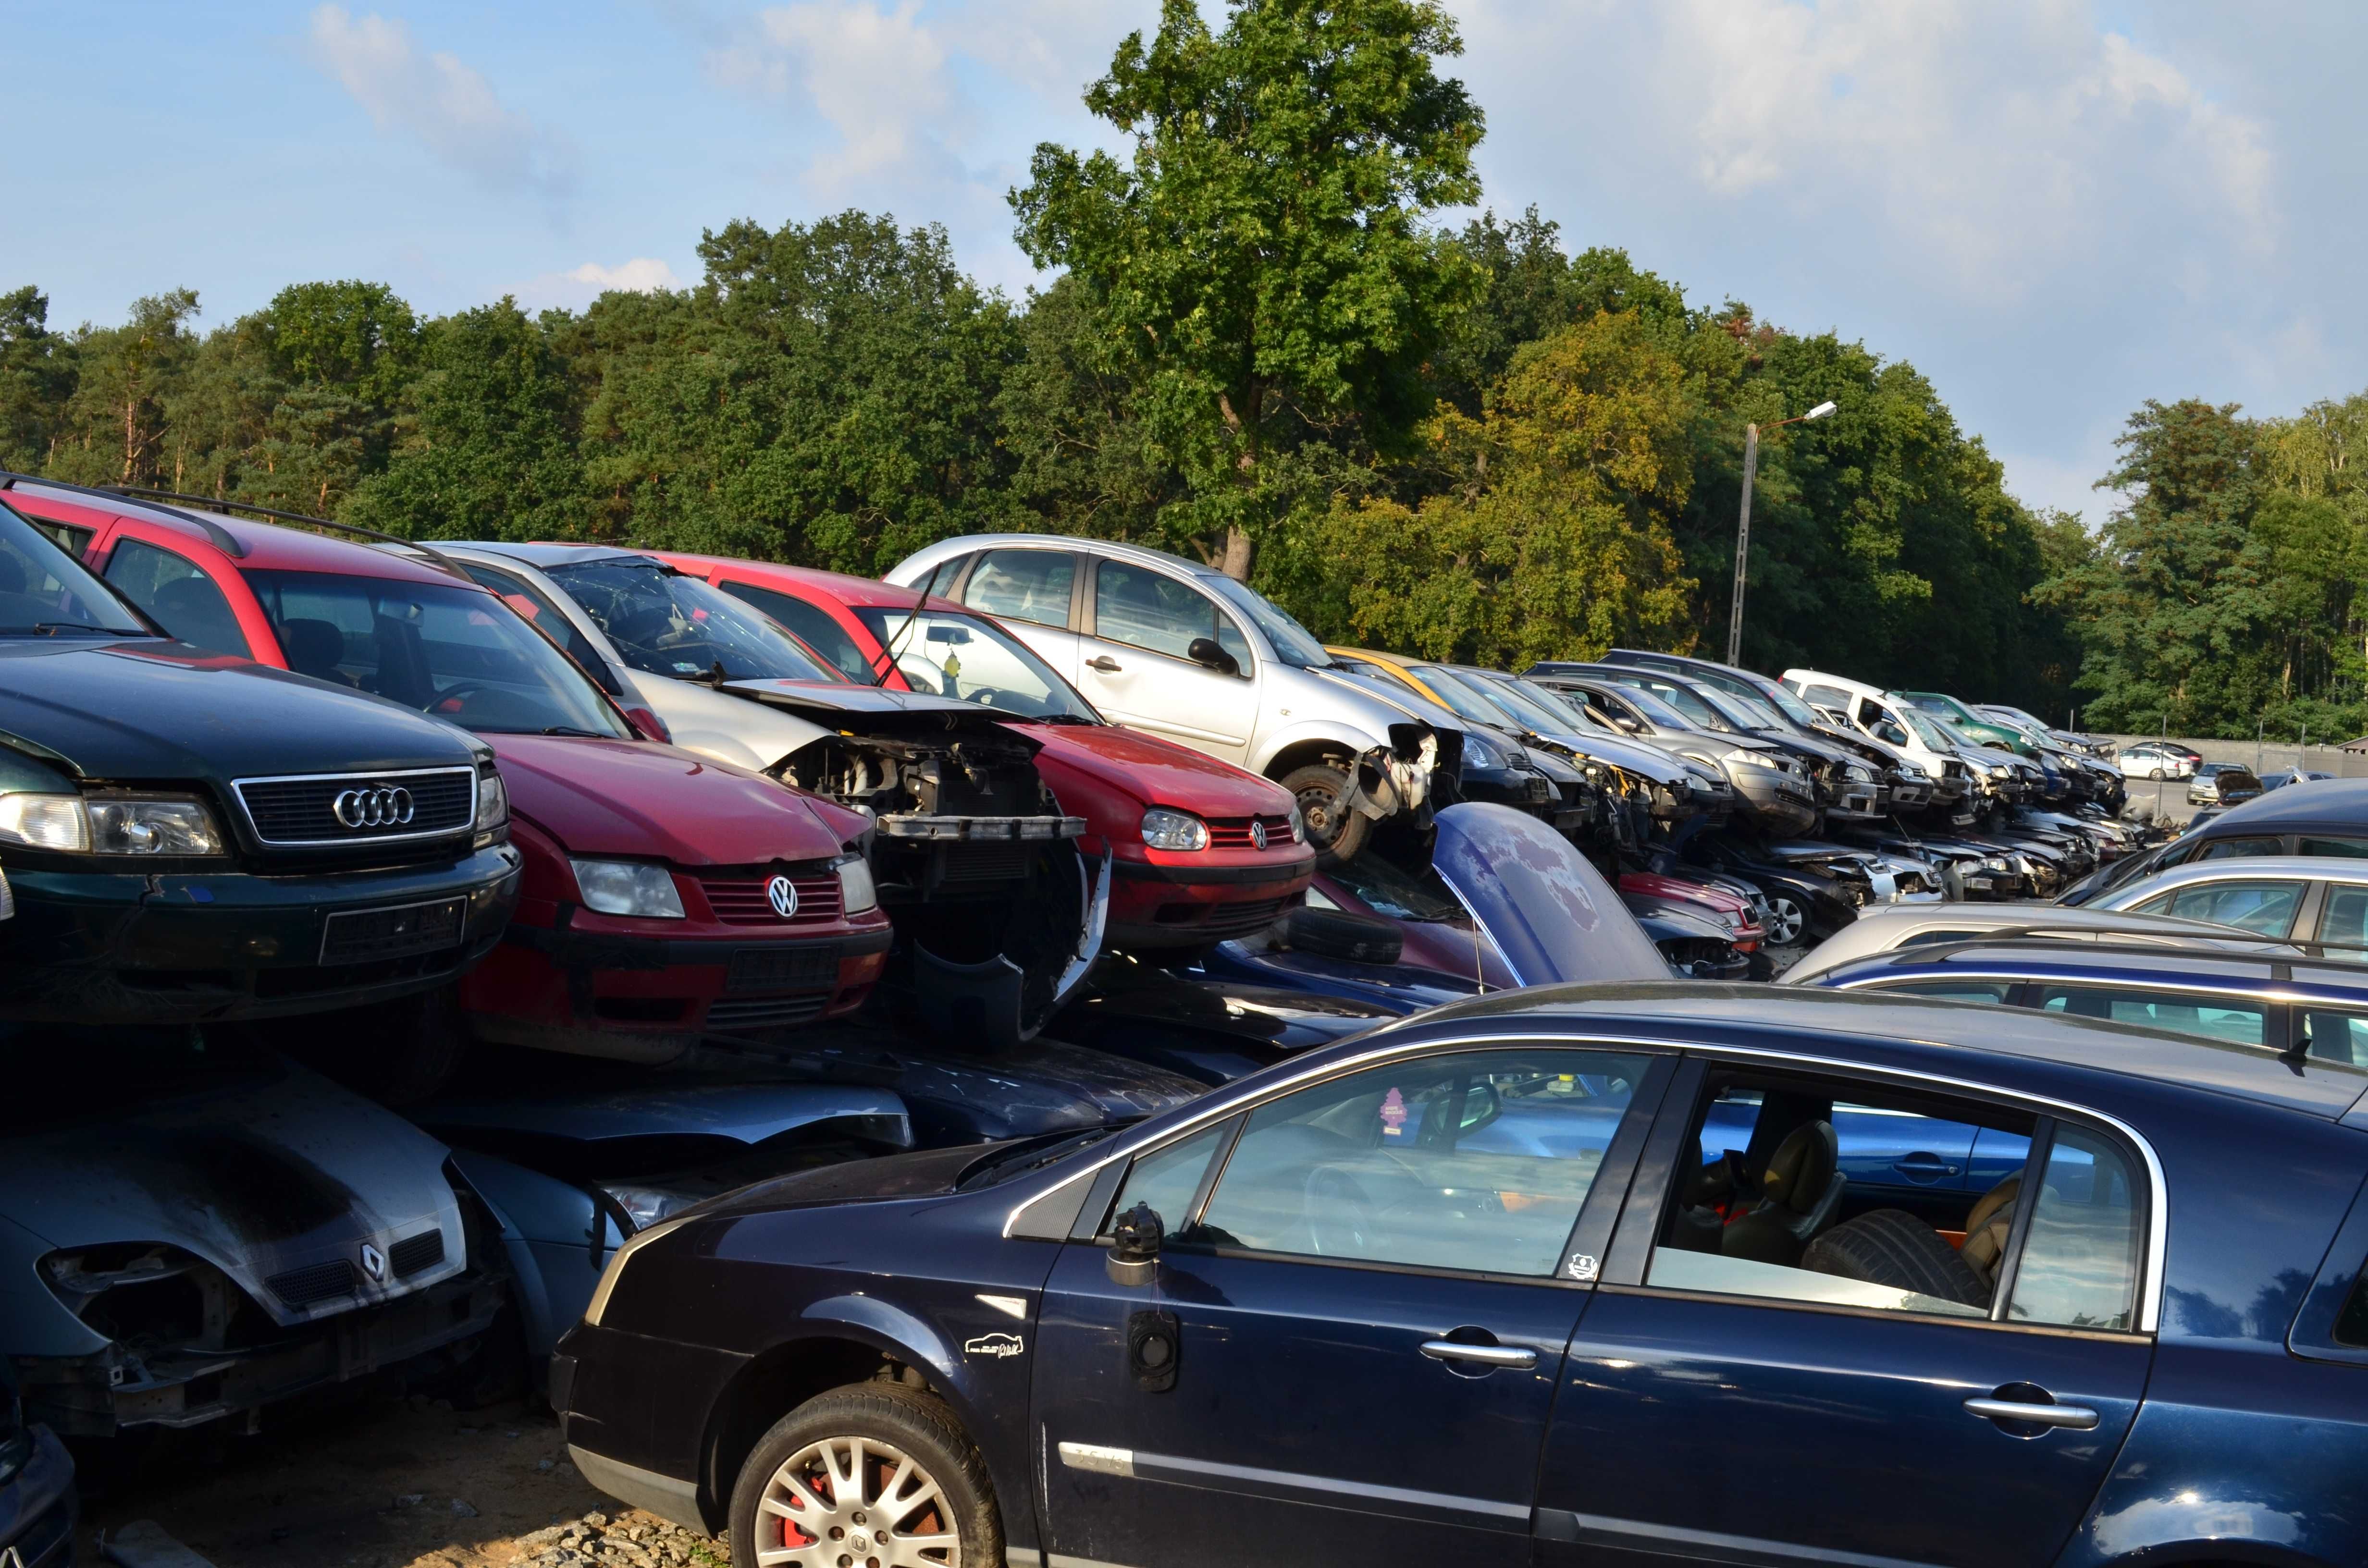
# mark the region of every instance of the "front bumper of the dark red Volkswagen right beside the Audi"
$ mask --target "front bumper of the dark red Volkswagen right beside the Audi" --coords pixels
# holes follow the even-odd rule
[[[476,1037],[673,1061],[701,1035],[770,1033],[855,1011],[893,940],[876,912],[793,938],[732,926],[651,936],[578,907],[564,926],[552,914],[554,924],[511,924],[462,978],[459,1004]]]

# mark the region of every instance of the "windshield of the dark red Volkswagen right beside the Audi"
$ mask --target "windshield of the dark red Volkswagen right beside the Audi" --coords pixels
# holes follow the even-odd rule
[[[630,739],[599,687],[481,587],[246,571],[289,668],[488,734]]]

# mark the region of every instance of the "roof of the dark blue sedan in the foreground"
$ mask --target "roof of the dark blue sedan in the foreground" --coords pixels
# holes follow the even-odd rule
[[[1669,1037],[1672,1026],[1693,1026],[1688,1033],[1705,1026],[1745,1035],[1776,1030],[1802,1037],[1797,1047],[1788,1049],[1816,1054],[1821,1042],[1847,1042],[1868,1052],[1868,1063],[1878,1063],[1885,1052],[1899,1045],[1937,1045],[1965,1059],[1961,1071],[1965,1078],[1980,1078],[1984,1063],[2063,1063],[2150,1085],[2228,1094],[2323,1120],[2340,1120],[2368,1090],[2368,1071],[2363,1068],[2314,1059],[2306,1071],[2297,1073],[2259,1047],[2221,1045],[2195,1035],[2027,1007],[1807,985],[1800,990],[1707,981],[1537,985],[1449,1002],[1359,1040],[1378,1042],[1381,1035],[1416,1023],[1478,1023],[1497,1016],[1563,1018],[1579,1033],[1634,1033],[1660,1040]],[[1956,1073],[1956,1068],[1951,1071]]]

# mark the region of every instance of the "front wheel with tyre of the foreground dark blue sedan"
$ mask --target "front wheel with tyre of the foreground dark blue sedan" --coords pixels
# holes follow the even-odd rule
[[[999,1568],[987,1464],[940,1400],[850,1383],[781,1416],[732,1487],[732,1561],[765,1568]]]

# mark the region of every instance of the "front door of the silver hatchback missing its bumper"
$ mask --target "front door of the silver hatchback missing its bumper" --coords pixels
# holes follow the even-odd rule
[[[1236,666],[1191,656],[1215,642]],[[1246,763],[1257,722],[1257,658],[1234,616],[1179,576],[1137,561],[1094,561],[1077,689],[1120,725]]]

